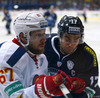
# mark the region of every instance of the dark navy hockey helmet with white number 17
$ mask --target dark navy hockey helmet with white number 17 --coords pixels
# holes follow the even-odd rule
[[[84,26],[79,17],[63,16],[58,23],[58,35],[62,37],[64,33],[67,34],[80,34],[80,43],[83,43]]]

